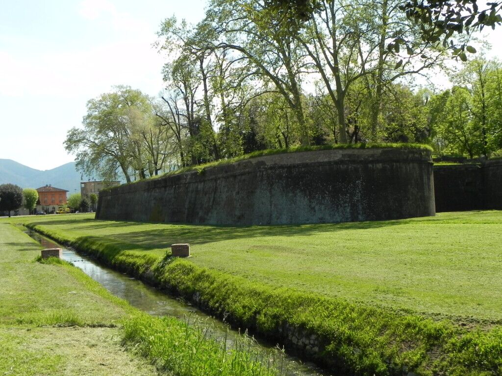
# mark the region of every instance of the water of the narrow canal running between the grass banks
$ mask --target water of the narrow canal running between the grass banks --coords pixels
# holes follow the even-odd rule
[[[113,295],[127,300],[131,305],[154,316],[174,316],[193,325],[208,326],[217,340],[227,339],[227,345],[232,346],[233,338],[238,334],[227,324],[206,315],[192,305],[172,298],[165,293],[150,287],[135,278],[121,274],[112,269],[98,265],[92,259],[77,254],[74,250],[61,246],[39,233],[25,229],[30,237],[38,241],[45,248],[62,248],[63,259],[82,269],[85,274],[99,282]],[[253,341],[255,351],[269,354],[274,346],[262,341]],[[302,362],[300,359],[284,355],[283,366],[287,369],[287,376],[328,376],[329,373],[312,363]]]

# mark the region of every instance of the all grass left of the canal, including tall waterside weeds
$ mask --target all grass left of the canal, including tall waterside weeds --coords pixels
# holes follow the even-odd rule
[[[0,223],[1,375],[275,374],[244,339],[226,351],[202,330],[138,311],[62,260],[35,261],[40,248]]]

